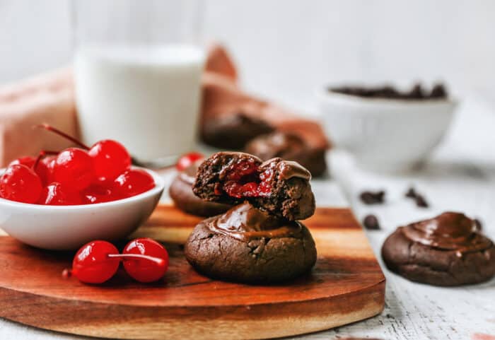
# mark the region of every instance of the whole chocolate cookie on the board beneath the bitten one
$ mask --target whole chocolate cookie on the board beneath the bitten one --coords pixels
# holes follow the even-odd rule
[[[293,279],[316,262],[315,242],[303,223],[270,216],[245,202],[194,228],[188,262],[226,281],[272,283]]]

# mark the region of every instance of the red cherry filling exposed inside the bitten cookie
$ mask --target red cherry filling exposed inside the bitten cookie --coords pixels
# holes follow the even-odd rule
[[[274,168],[260,168],[252,159],[240,159],[222,170],[223,181],[216,183],[215,194],[230,197],[267,197],[272,191]]]

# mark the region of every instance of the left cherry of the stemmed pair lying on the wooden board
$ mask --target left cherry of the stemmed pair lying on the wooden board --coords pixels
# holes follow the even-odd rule
[[[120,259],[110,257],[119,254],[110,242],[93,241],[83,245],[72,261],[71,274],[84,283],[103,283],[115,275]]]

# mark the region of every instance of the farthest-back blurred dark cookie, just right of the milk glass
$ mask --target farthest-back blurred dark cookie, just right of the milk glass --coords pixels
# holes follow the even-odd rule
[[[216,148],[238,150],[256,136],[272,131],[274,127],[264,120],[239,112],[206,121],[202,129],[202,140]]]

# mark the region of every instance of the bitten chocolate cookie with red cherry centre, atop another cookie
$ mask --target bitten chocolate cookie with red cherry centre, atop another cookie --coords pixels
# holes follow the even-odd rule
[[[258,209],[291,221],[315,212],[311,174],[296,162],[260,158],[240,152],[219,152],[204,160],[192,191],[207,201],[240,204],[250,201]]]

